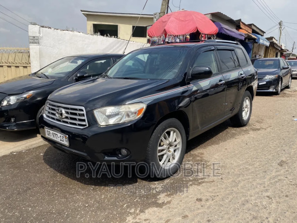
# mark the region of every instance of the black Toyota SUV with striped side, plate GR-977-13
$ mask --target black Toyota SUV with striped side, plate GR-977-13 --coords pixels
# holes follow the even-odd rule
[[[42,138],[93,161],[147,164],[151,176],[176,173],[187,140],[231,119],[250,120],[257,71],[231,41],[134,50],[100,78],[63,87],[39,118]]]

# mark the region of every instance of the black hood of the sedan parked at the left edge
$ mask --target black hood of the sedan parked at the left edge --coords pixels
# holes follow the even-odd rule
[[[0,93],[7,95],[21,94],[26,91],[47,86],[54,81],[55,80],[52,79],[35,78],[26,75],[0,83]]]

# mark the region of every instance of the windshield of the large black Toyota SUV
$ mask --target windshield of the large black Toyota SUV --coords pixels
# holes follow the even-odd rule
[[[187,51],[185,47],[141,49],[125,56],[106,74],[119,79],[174,79]]]

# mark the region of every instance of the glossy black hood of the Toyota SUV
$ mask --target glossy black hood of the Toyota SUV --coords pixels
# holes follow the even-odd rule
[[[123,80],[98,78],[58,89],[48,100],[62,104],[83,106],[86,111],[122,105],[168,80]]]

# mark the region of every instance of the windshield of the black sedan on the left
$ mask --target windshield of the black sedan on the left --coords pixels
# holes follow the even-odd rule
[[[47,65],[40,71],[36,72],[37,77],[43,75],[49,79],[62,78],[69,74],[78,65],[84,62],[87,58],[84,57],[65,57],[52,64]]]

